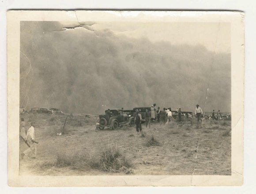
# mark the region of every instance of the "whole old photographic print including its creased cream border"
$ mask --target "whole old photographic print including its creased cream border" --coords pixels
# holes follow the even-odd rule
[[[243,19],[8,11],[9,186],[241,186]]]

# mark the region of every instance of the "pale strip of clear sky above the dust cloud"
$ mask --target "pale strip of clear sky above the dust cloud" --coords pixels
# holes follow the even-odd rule
[[[90,29],[109,29],[116,35],[174,45],[203,45],[210,51],[230,52],[230,23],[218,22],[87,22]],[[62,22],[63,26],[77,25]]]

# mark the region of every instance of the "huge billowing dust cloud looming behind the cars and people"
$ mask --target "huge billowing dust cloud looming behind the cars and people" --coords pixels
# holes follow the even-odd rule
[[[204,109],[209,87],[206,111],[231,110],[230,53],[62,27],[21,22],[20,105],[27,109],[101,113],[156,103],[193,111],[197,103]]]

